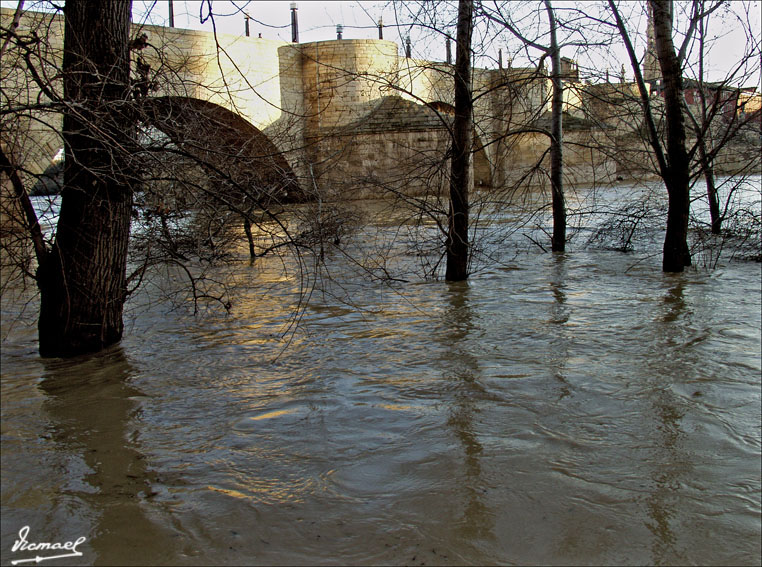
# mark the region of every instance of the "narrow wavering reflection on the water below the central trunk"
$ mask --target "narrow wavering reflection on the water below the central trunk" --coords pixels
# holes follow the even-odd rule
[[[481,457],[484,451],[476,429],[479,401],[485,391],[480,381],[474,341],[469,335],[474,330],[473,309],[470,304],[468,282],[449,283],[447,306],[442,317],[445,329],[441,336],[444,378],[454,391],[447,425],[452,428],[463,448],[464,479],[462,482],[463,507],[459,531],[466,541],[494,538],[494,513],[485,503],[487,488],[482,478]]]

